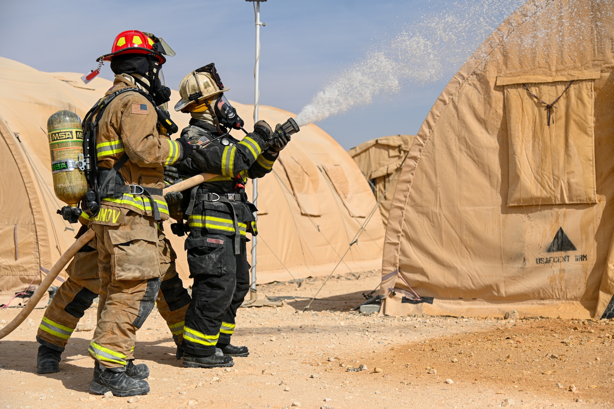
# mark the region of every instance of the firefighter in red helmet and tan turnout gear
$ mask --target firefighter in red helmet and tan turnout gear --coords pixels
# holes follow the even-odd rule
[[[140,367],[138,376],[127,370],[136,331],[152,311],[166,273],[161,261],[173,258],[161,229],[168,219],[163,166],[192,152],[185,138],[167,136],[175,125],[158,108],[170,96],[161,75],[165,55],[174,52],[153,34],[120,33],[112,52],[101,57],[111,61],[114,85],[84,119],[86,162],[93,155],[98,168],[86,167],[92,190],[82,214],[96,233],[101,281],[98,324],[88,349],[96,360],[90,389],[98,394],[149,392],[142,375],[149,372],[146,365],[134,365]]]

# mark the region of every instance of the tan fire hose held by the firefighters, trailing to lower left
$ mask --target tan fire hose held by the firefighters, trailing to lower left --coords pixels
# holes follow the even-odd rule
[[[190,189],[190,187],[200,185],[201,183],[206,182],[216,176],[216,174],[211,173],[197,174],[189,179],[185,179],[185,181],[181,181],[166,187],[162,191],[162,194],[166,195],[166,193],[169,192],[181,192],[182,190]],[[13,332],[21,324],[21,322],[25,321],[29,314],[34,310],[37,303],[41,301],[41,298],[43,295],[45,295],[45,292],[49,289],[49,286],[51,286],[53,280],[55,280],[55,278],[60,274],[60,271],[66,267],[66,264],[72,260],[72,257],[77,254],[81,247],[85,246],[85,244],[92,240],[94,236],[94,231],[90,229],[85,232],[84,235],[80,236],[74,243],[72,243],[70,247],[68,247],[68,250],[66,250],[64,254],[60,256],[60,259],[53,265],[47,276],[42,280],[36,291],[34,291],[34,294],[32,297],[30,297],[23,310],[21,310],[20,313],[6,325],[6,327],[0,329],[0,339],[9,335],[9,333]]]

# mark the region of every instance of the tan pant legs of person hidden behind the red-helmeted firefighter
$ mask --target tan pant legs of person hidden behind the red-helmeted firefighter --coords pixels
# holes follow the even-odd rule
[[[165,319],[177,345],[183,340],[185,311],[190,304],[190,295],[175,269],[174,251],[168,239],[163,238],[164,246],[158,241],[160,270],[163,272],[157,306]],[[163,255],[168,257],[163,257]],[[85,310],[90,308],[100,292],[98,276],[98,251],[96,239],[90,241],[75,255],[66,268],[68,280],[63,282],[42,318],[36,340],[42,345],[63,352]],[[99,304],[100,305],[100,304]]]

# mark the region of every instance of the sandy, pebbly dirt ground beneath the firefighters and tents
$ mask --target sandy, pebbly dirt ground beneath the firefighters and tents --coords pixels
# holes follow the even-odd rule
[[[89,391],[91,330],[71,337],[60,373],[37,375],[34,337],[44,311],[35,310],[0,341],[0,408],[614,407],[614,322],[350,312],[379,280],[378,271],[333,277],[305,313],[304,299],[239,309],[233,344],[249,346],[251,355],[228,370],[182,367],[154,309],[135,354],[149,365],[151,392],[133,399]],[[309,297],[322,282],[258,291]],[[0,320],[17,313],[1,310]],[[95,319],[90,308],[81,322]],[[351,370],[360,365],[367,369]]]

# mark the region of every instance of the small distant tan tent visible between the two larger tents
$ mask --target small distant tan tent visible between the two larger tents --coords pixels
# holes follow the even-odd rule
[[[384,226],[388,223],[392,197],[398,183],[398,174],[396,177],[394,174],[397,173],[405,154],[410,150],[414,138],[414,135],[384,136],[384,138],[371,139],[348,150],[348,154],[368,179],[375,200],[379,200],[386,188],[388,189],[384,198],[379,202],[379,213]]]

